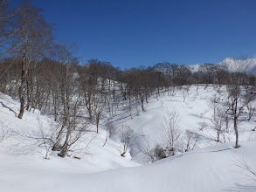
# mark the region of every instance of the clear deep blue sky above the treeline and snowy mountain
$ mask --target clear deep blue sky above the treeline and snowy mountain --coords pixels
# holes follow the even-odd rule
[[[122,69],[159,62],[217,63],[256,55],[256,0],[34,0],[82,63]]]

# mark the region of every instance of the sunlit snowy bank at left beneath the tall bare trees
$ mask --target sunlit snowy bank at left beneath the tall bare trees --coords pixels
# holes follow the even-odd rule
[[[40,115],[38,111],[35,113],[25,112],[23,120],[20,120],[17,118],[18,107],[17,101],[0,93],[0,136],[3,134],[7,138],[2,143],[0,142],[1,162],[2,158],[5,159],[9,156],[15,161],[28,163],[28,166],[32,166],[33,163],[35,166],[42,163],[46,167],[63,164],[63,168],[73,169],[74,172],[83,169],[86,170],[86,173],[138,166],[134,161],[128,161],[128,158],[121,157],[121,142],[107,141],[106,146],[102,147],[106,135],[104,130],[100,130],[100,134],[91,131],[80,139],[80,143],[76,146],[80,150],[76,154],[82,157],[81,160],[61,159],[54,153],[50,154],[49,161],[44,160],[46,147],[42,138],[49,138],[47,134],[51,134],[55,122]],[[2,131],[4,132],[2,133]],[[85,172],[83,171],[83,173]]]

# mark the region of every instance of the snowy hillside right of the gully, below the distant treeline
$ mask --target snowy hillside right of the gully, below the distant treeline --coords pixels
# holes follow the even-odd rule
[[[131,147],[133,161],[143,163],[145,160],[141,152],[142,146],[147,139],[150,147],[154,147],[156,143],[163,142],[163,123],[168,118],[168,113],[176,111],[178,116],[178,127],[183,131],[190,130],[201,134],[207,140],[197,143],[197,147],[209,147],[216,145],[216,132],[211,127],[211,117],[213,109],[210,107],[211,100],[217,97],[218,102],[224,103],[226,92],[225,86],[219,89],[217,93],[213,86],[191,86],[188,93],[184,90],[176,90],[175,95],[162,95],[156,99],[152,97],[146,106],[146,112],[142,113],[140,105],[136,106],[137,110],[133,111],[132,119],[127,113],[119,111],[113,118],[112,122],[115,127],[126,125],[134,130],[135,143]],[[252,132],[255,127],[253,119],[247,120],[248,114],[243,113],[241,122],[239,123],[240,141],[247,141],[250,138],[256,138],[256,133]],[[225,141],[235,141],[235,135],[232,130],[232,122],[229,125],[230,133],[225,134]],[[186,138],[183,138],[186,140]],[[224,139],[221,138],[224,142]]]

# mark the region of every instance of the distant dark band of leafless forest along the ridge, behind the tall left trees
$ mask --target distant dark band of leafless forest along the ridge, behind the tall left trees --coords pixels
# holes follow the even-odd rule
[[[228,72],[222,65],[200,65],[197,72],[191,72],[189,65],[159,63],[154,66],[131,68],[121,71],[109,62],[91,59],[86,65],[79,61],[67,49],[66,45],[56,47],[54,57],[40,58],[37,63],[31,61],[24,78],[24,108],[49,111],[49,99],[56,101],[63,96],[66,86],[72,86],[86,99],[86,108],[90,108],[94,94],[111,95],[116,98],[120,90],[122,99],[133,97],[141,103],[148,102],[152,94],[170,93],[173,87],[192,84],[231,84],[231,78],[239,77],[239,84],[253,91],[255,76],[241,72]],[[3,58],[1,66],[1,92],[12,98],[20,97],[22,86],[23,58]],[[106,88],[108,87],[108,88]],[[70,90],[70,92],[73,90]],[[142,106],[142,110],[143,106]],[[54,110],[57,114],[57,108]],[[90,115],[90,118],[92,116]]]

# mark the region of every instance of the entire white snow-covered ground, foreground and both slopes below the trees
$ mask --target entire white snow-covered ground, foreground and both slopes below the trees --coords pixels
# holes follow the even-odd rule
[[[224,90],[218,95],[219,102],[225,98]],[[125,158],[120,155],[118,134],[102,147],[105,119],[99,134],[92,131],[82,138],[80,160],[54,153],[45,160],[41,138],[51,132],[54,122],[38,111],[25,112],[19,120],[18,102],[0,93],[0,131],[6,135],[0,143],[0,191],[256,191],[255,183],[238,167],[241,160],[252,166],[256,161],[254,119],[246,120],[246,111],[243,113],[238,149],[233,148],[233,132],[225,136],[225,143],[215,142],[209,106],[215,94],[212,86],[191,86],[189,94],[177,90],[173,96],[165,93],[150,98],[145,112],[137,106],[129,113],[124,103],[110,121],[114,127],[126,125],[134,130],[135,140]],[[183,133],[188,129],[209,140],[198,142],[195,150],[143,165],[142,144],[145,138],[152,147],[161,143],[168,111],[178,113]]]

